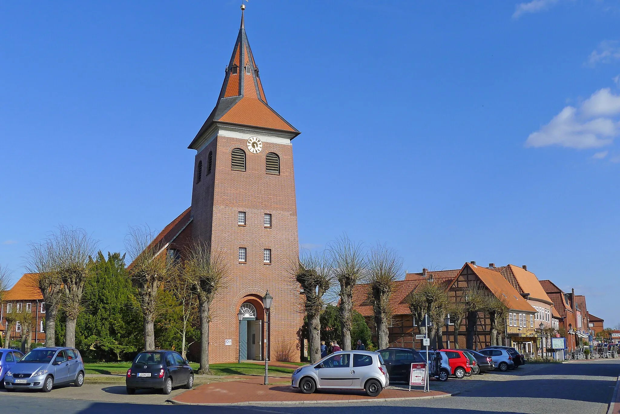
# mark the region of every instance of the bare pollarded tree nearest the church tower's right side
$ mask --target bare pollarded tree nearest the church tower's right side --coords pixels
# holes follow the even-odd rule
[[[310,362],[321,359],[321,313],[324,309],[323,296],[332,287],[334,273],[324,251],[309,253],[302,251],[298,266],[294,269],[295,279],[301,285],[306,297],[305,308],[308,318],[308,348]]]

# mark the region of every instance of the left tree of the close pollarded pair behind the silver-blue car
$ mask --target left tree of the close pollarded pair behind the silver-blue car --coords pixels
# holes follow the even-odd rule
[[[57,266],[57,247],[53,238],[42,243],[30,243],[25,268],[34,277],[33,289],[38,289],[45,302],[45,346],[56,346],[56,316],[63,304],[64,289]]]

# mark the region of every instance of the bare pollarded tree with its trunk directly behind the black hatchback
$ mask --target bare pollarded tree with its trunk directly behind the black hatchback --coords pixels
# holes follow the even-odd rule
[[[148,227],[131,227],[125,249],[132,259],[127,267],[135,299],[144,319],[144,349],[155,349],[154,322],[161,311],[159,291],[176,272],[174,261],[164,250],[162,241],[154,240]]]

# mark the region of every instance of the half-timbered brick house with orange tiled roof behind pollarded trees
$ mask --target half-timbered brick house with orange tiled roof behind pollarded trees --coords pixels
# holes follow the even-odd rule
[[[411,292],[427,281],[442,286],[448,294],[448,300],[453,303],[462,302],[467,290],[474,287],[494,294],[509,308],[509,316],[503,321],[506,332],[503,338],[500,338],[502,343],[511,346],[522,346],[523,343],[528,343],[527,346],[532,348],[536,344],[536,331],[533,324],[533,315],[536,310],[521,297],[519,292],[500,273],[471,262],[464,264],[461,269],[447,271],[423,269],[421,273],[407,274],[404,281],[397,282],[396,289],[394,289],[389,300],[392,313],[391,326],[389,326],[391,346],[420,348],[421,341],[414,340],[415,335],[420,330],[412,317],[407,298]],[[376,335],[374,333],[373,307],[368,300],[369,292],[370,287],[368,285],[356,286],[353,291],[353,307],[366,318],[373,335]],[[474,348],[480,349],[489,346],[492,343],[489,313],[477,312],[475,320],[476,322],[472,325],[470,325],[468,318],[463,318],[459,326],[442,324],[439,339],[441,343],[438,343],[438,346],[464,348],[468,333],[473,336]],[[454,343],[455,336],[458,346]]]

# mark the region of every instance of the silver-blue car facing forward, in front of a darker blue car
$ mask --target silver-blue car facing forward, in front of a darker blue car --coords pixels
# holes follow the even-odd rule
[[[74,348],[37,348],[6,372],[4,388],[50,392],[54,385],[84,384],[84,361]]]

